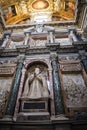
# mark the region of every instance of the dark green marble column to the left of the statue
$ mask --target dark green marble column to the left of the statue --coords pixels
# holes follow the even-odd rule
[[[23,63],[19,62],[5,115],[13,116],[14,114],[15,104],[16,104],[18,90],[19,90],[20,78],[22,74],[21,72],[22,67],[23,67]]]

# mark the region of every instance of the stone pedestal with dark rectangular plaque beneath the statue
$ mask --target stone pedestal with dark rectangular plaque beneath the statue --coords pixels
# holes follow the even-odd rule
[[[49,120],[50,115],[48,112],[48,98],[41,99],[20,99],[20,112],[17,116],[17,121],[30,121],[30,120]]]

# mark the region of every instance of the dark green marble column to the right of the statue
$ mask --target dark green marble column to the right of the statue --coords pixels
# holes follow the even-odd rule
[[[54,89],[54,99],[55,99],[55,114],[64,114],[63,100],[60,86],[59,78],[59,67],[57,62],[57,55],[51,55],[51,64],[53,69],[53,89]]]

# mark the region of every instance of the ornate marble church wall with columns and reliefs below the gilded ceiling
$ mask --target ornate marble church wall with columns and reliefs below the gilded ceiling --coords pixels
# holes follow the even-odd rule
[[[87,1],[80,4],[74,22],[1,28],[0,130],[87,129]]]

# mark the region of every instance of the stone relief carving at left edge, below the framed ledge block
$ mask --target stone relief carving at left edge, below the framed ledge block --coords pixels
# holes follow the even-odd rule
[[[3,117],[8,101],[12,79],[0,79],[0,118]]]

